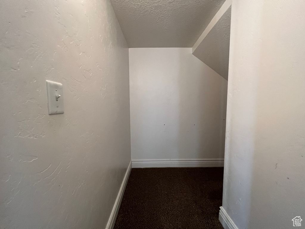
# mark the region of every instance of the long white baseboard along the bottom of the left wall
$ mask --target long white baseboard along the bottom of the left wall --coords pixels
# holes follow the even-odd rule
[[[116,199],[116,201],[114,203],[114,206],[113,206],[113,209],[111,211],[106,229],[113,229],[113,227],[114,227],[114,223],[115,223],[115,220],[117,219],[117,213],[119,212],[119,208],[120,208],[120,205],[121,205],[121,202],[122,202],[123,194],[124,194],[124,191],[125,191],[125,188],[126,188],[126,185],[127,185],[127,181],[128,181],[130,171],[131,171],[131,162],[129,163],[127,171],[125,173],[122,185],[121,185],[120,190],[119,190],[119,194],[117,195],[117,199]]]

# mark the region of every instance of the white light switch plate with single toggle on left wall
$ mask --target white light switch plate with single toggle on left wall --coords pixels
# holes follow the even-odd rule
[[[46,82],[49,115],[63,114],[63,85],[49,80]]]

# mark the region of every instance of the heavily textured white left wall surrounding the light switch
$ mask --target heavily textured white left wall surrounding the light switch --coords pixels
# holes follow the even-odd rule
[[[131,158],[110,2],[4,0],[0,25],[0,227],[105,228]],[[63,83],[62,115],[47,79]]]

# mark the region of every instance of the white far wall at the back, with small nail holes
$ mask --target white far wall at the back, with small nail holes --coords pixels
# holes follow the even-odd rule
[[[129,49],[132,159],[223,158],[227,81],[192,48]]]

